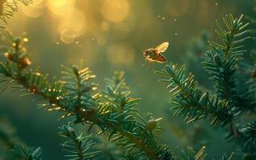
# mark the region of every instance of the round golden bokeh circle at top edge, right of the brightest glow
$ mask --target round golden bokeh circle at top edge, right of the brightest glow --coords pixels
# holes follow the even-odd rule
[[[121,22],[128,17],[129,3],[127,0],[104,0],[101,13],[110,22]]]

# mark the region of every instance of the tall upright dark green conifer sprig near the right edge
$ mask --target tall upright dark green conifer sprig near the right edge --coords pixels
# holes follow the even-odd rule
[[[208,51],[202,64],[209,73],[210,79],[215,82],[215,93],[224,102],[229,102],[230,114],[233,119],[230,121],[230,135],[238,138],[238,125],[236,118],[242,110],[250,108],[251,98],[254,91],[241,90],[244,87],[238,86],[239,81],[235,74],[238,73],[238,62],[241,62],[244,50],[244,42],[250,38],[247,34],[250,30],[246,27],[249,23],[242,22],[240,18],[234,18],[232,14],[222,18],[224,25],[217,23],[218,29],[215,30],[221,43],[209,42],[212,50]],[[240,90],[239,90],[240,89]],[[241,93],[244,91],[244,93]],[[246,95],[245,95],[246,94]],[[250,97],[247,97],[249,95]]]

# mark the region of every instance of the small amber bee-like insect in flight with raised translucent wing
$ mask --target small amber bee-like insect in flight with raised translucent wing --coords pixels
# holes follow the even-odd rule
[[[143,55],[148,62],[166,62],[166,58],[161,54],[167,50],[169,46],[169,42],[163,42],[161,45],[156,46],[156,48],[150,48],[148,50],[144,50]]]

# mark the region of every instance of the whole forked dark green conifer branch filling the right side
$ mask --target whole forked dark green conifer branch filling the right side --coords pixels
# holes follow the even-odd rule
[[[209,119],[211,125],[225,128],[229,134],[227,138],[238,142],[244,153],[255,158],[254,122],[246,125],[242,122],[243,115],[255,114],[254,74],[246,79],[245,73],[239,70],[242,55],[246,52],[244,42],[250,38],[247,35],[250,31],[246,30],[249,23],[242,22],[242,18],[227,15],[222,19],[225,27],[217,22],[216,33],[221,42],[209,42],[211,50],[202,59],[209,79],[214,82],[213,91],[203,90],[193,74],[185,73],[185,66],[171,63],[156,73],[164,75],[165,79],[161,81],[169,83],[167,88],[172,94],[170,103],[174,114],[185,118],[186,122]],[[243,63],[243,66],[246,65]]]

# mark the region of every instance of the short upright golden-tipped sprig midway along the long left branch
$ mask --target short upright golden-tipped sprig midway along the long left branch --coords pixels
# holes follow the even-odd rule
[[[89,68],[83,68],[83,63],[80,62],[79,66],[71,65],[62,73],[64,77],[61,83],[63,84],[63,90],[66,90],[66,94],[60,98],[69,103],[69,110],[88,110],[97,106],[96,98],[100,96],[100,93],[97,91],[98,86],[89,82],[92,78],[95,78]],[[76,122],[81,121],[79,114],[76,115],[76,118]]]

